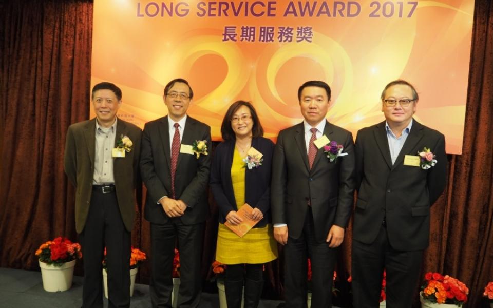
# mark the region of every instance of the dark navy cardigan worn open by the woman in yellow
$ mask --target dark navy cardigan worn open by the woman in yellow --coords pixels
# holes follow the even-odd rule
[[[245,202],[251,207],[257,207],[262,211],[263,219],[255,227],[264,227],[270,219],[270,185],[272,153],[274,143],[266,138],[258,137],[252,139],[252,146],[263,154],[262,165],[258,168],[245,170]],[[224,223],[227,213],[238,210],[231,181],[231,165],[235,140],[221,142],[215,150],[211,168],[211,190],[214,200],[219,207],[219,222]]]

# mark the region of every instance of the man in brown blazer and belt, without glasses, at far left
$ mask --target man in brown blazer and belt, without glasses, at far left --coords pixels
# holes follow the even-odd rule
[[[92,88],[96,118],[70,125],[64,167],[75,194],[75,229],[84,256],[82,306],[102,307],[102,264],[107,250],[109,307],[130,306],[130,232],[134,225],[142,130],[117,119],[122,90]]]

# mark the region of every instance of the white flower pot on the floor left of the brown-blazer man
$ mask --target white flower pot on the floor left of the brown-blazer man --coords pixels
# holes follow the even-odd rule
[[[61,267],[40,262],[43,288],[48,292],[66,291],[72,286],[75,260],[63,263]]]

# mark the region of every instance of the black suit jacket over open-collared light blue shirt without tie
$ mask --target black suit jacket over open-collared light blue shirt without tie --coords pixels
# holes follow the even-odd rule
[[[404,165],[405,155],[424,147],[436,155],[428,170]],[[392,165],[385,121],[358,131],[355,144],[358,199],[353,239],[370,244],[386,217],[390,245],[401,251],[425,249],[429,243],[430,206],[445,188],[445,137],[413,120],[409,136]]]

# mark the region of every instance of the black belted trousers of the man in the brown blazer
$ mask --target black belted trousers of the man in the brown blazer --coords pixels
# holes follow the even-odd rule
[[[93,189],[89,214],[79,235],[84,263],[83,308],[103,307],[102,260],[106,246],[109,307],[130,306],[130,232],[115,192]]]

